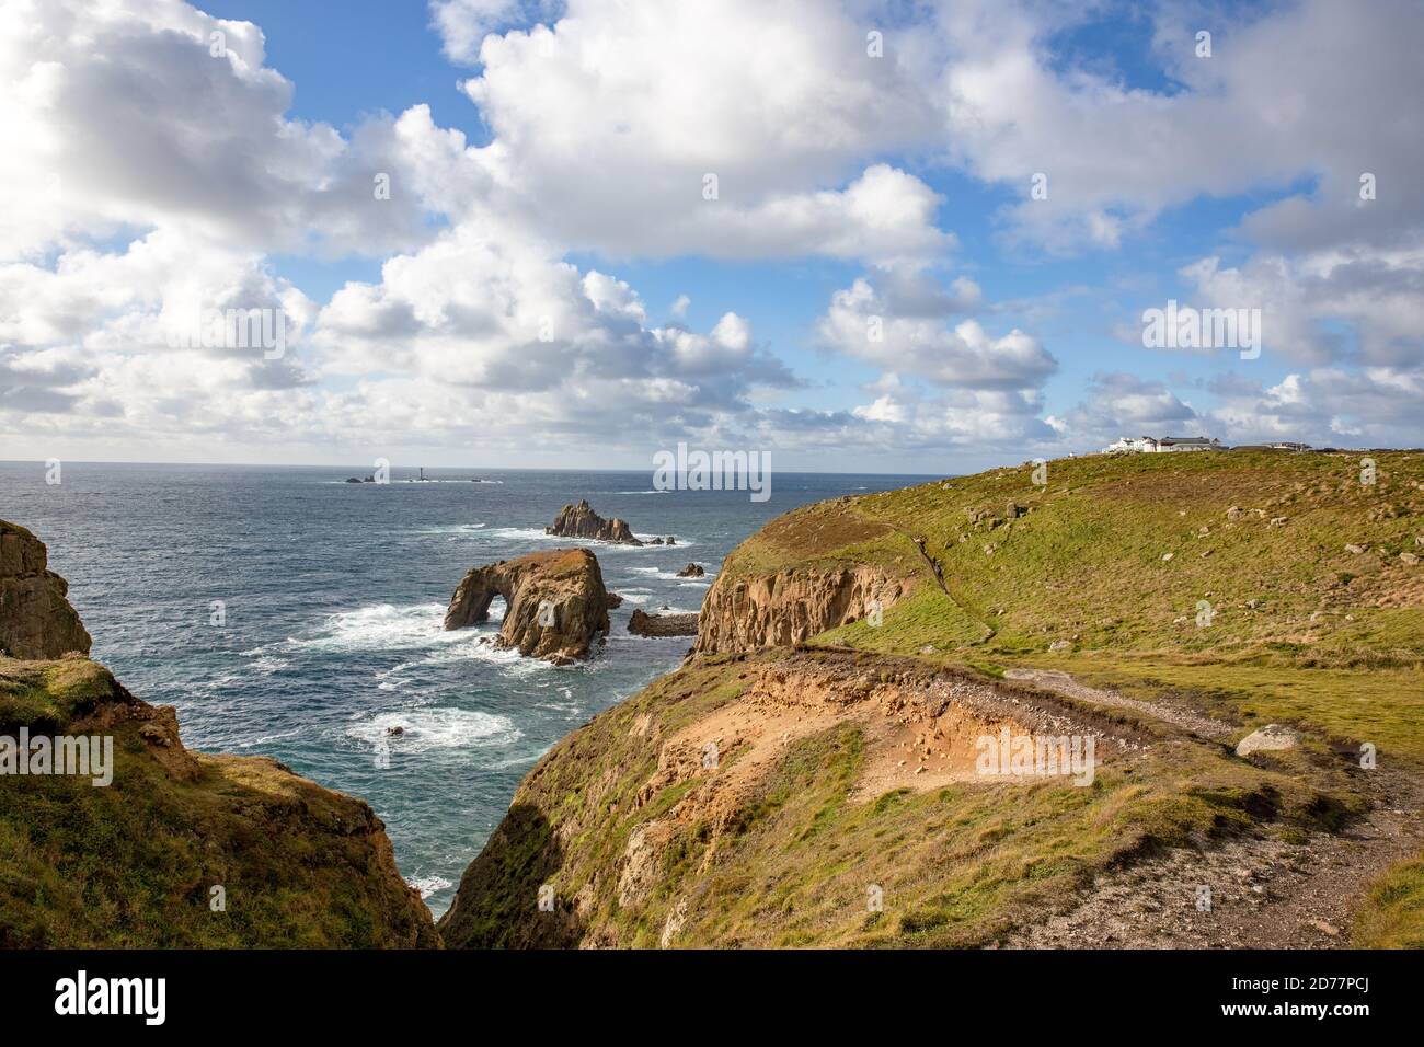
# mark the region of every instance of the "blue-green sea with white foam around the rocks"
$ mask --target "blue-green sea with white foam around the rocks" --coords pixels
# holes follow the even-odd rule
[[[743,538],[797,506],[920,483],[775,473],[770,497],[654,490],[652,472],[0,463],[0,519],[28,527],[130,691],[178,708],[184,744],[262,754],[369,802],[402,873],[439,917],[555,742],[675,668],[686,637],[628,634],[635,608],[696,611]],[[588,499],[641,538],[544,533]],[[554,667],[501,650],[487,624],[444,631],[478,564],[587,546],[624,598],[591,660]],[[689,563],[703,578],[679,578]],[[400,726],[399,735],[387,734]]]

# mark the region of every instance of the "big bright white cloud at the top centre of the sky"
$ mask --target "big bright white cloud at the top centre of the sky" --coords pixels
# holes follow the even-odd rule
[[[449,46],[466,20],[441,13]],[[933,107],[837,4],[572,0],[480,60],[466,91],[494,141],[471,160],[503,214],[568,246],[883,261],[953,242],[923,181],[870,162],[933,135]]]

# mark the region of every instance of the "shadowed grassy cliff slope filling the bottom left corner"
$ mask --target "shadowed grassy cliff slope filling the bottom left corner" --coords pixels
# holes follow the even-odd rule
[[[7,570],[44,577],[43,544],[0,528]],[[11,635],[53,651],[83,634],[67,604],[28,607]],[[41,762],[57,736],[88,739],[84,773]],[[0,946],[440,944],[370,806],[263,756],[187,749],[172,708],[78,654],[0,658]]]

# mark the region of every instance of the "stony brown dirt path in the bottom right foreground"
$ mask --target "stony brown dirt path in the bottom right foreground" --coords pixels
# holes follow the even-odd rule
[[[1024,926],[1011,949],[1339,949],[1386,868],[1424,850],[1424,783],[1371,771],[1374,808],[1309,843],[1230,840],[1099,876],[1071,909]],[[1199,892],[1209,889],[1209,909]]]

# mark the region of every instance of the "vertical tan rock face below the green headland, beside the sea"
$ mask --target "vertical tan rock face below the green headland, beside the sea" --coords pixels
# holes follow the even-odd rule
[[[789,647],[890,607],[911,581],[867,564],[790,570],[753,578],[718,575],[698,620],[699,654]]]

